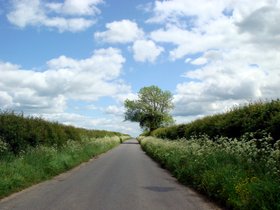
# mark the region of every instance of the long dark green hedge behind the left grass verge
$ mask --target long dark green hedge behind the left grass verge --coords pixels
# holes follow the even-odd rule
[[[0,147],[5,144],[6,150],[14,154],[40,145],[60,148],[69,140],[80,142],[82,137],[102,138],[121,135],[123,134],[117,132],[75,128],[37,117],[24,117],[23,114],[9,111],[0,112]],[[0,154],[3,153],[2,150],[0,149]]]

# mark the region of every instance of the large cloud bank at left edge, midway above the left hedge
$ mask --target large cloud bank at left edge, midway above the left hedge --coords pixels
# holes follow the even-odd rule
[[[119,80],[125,59],[118,49],[94,51],[86,59],[60,56],[42,72],[0,63],[1,105],[28,112],[63,112],[67,100],[96,101],[121,97],[130,86]]]

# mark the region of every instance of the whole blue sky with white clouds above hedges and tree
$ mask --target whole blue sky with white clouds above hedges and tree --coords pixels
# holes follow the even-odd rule
[[[0,109],[137,136],[125,99],[177,124],[280,97],[278,0],[0,0]]]

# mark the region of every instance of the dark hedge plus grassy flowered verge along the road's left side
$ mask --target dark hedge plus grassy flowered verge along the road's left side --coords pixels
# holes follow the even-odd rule
[[[0,113],[0,198],[46,180],[130,138]]]

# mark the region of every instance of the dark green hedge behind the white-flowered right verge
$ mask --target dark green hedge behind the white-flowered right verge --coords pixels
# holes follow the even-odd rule
[[[225,114],[204,117],[184,125],[159,128],[151,135],[168,139],[188,139],[201,134],[207,134],[211,138],[240,138],[250,132],[256,138],[269,133],[274,142],[280,139],[280,100],[236,107]]]

